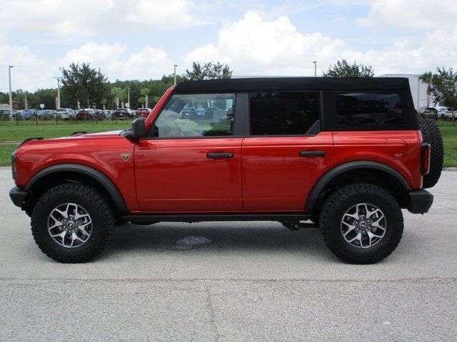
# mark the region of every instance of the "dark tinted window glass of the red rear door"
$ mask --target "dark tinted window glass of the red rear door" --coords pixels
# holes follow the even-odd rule
[[[317,92],[249,94],[251,135],[302,135],[318,120]]]

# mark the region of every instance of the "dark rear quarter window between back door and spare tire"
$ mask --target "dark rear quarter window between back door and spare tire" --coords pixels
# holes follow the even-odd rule
[[[338,126],[389,127],[404,123],[398,93],[345,93],[336,95]]]

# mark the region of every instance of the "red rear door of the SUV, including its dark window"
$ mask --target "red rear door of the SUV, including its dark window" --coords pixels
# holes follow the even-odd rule
[[[318,92],[249,94],[243,140],[247,211],[303,211],[316,181],[333,165],[331,132],[320,131]]]

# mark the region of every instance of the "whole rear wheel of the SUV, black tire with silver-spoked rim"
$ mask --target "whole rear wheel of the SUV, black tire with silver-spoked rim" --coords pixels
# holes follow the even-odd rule
[[[320,227],[328,248],[350,264],[388,257],[403,234],[401,207],[383,188],[367,183],[341,187],[323,205]]]

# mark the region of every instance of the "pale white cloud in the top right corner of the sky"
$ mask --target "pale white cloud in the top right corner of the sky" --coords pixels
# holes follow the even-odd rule
[[[417,30],[457,27],[455,0],[373,0],[368,16],[358,19],[362,26],[382,30]]]

